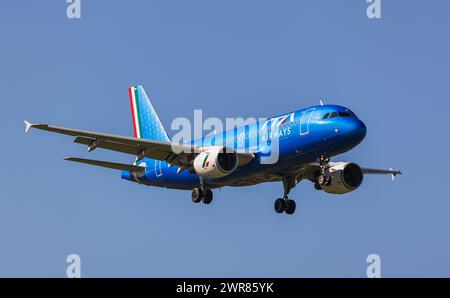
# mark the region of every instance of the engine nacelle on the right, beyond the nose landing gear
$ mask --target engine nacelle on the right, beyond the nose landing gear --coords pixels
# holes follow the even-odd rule
[[[326,175],[331,177],[329,185],[322,185],[327,193],[345,194],[357,189],[364,178],[361,167],[353,162],[330,163]]]

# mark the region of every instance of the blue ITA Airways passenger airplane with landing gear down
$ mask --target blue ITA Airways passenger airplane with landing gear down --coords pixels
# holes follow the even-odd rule
[[[131,154],[135,156],[131,165],[74,157],[66,160],[122,170],[123,179],[139,184],[192,190],[195,203],[210,204],[212,189],[281,181],[284,195],[275,200],[277,213],[295,212],[295,201],[288,195],[302,180],[311,181],[317,190],[345,194],[357,189],[365,174],[390,174],[392,178],[401,174],[393,169],[330,161],[366,136],[364,123],[343,106],[321,103],[176,144],[171,142],[144,88],[130,87],[129,97],[134,137],[27,121],[25,131],[36,128],[71,135],[89,152],[103,148]]]

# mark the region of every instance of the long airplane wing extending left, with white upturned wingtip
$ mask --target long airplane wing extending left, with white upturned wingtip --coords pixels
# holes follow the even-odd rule
[[[125,137],[113,134],[71,129],[48,124],[31,124],[25,121],[25,132],[30,128],[56,132],[75,137],[74,142],[88,146],[88,151],[103,148],[116,152],[127,153],[140,160],[144,157],[163,160],[170,165],[177,165],[183,169],[192,166],[195,156],[205,148],[191,144],[176,144],[171,142],[154,141]],[[175,153],[181,152],[181,153]],[[239,166],[249,163],[255,157],[253,153],[236,152],[238,154]]]

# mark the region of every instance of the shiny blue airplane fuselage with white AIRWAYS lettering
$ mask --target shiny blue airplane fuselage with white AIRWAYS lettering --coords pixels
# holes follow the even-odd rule
[[[191,143],[254,152],[256,158],[249,164],[238,167],[225,177],[206,179],[208,188],[218,188],[278,181],[279,177],[295,173],[322,155],[331,157],[349,151],[365,135],[366,126],[348,108],[319,105],[210,134]],[[273,146],[274,142],[278,144]],[[197,174],[178,172],[177,166],[170,167],[165,161],[144,158],[140,163],[146,165],[144,174],[137,176],[123,171],[122,178],[174,189],[193,189],[200,185]],[[241,178],[245,178],[245,182],[240,182]]]

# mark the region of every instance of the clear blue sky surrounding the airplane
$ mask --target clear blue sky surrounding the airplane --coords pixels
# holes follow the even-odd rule
[[[0,276],[450,276],[450,4],[365,0],[82,0],[0,3]],[[266,117],[342,104],[368,126],[340,160],[402,169],[336,197],[304,181],[294,216],[280,183],[190,193],[72,164],[72,138],[25,135],[23,120],[132,134],[127,88],[143,84],[163,123]],[[171,132],[173,134],[173,132]]]

